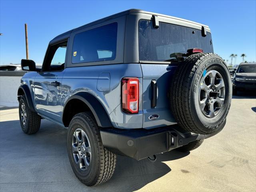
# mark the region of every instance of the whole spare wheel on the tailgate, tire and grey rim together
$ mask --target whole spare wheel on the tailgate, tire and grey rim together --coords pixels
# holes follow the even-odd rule
[[[228,67],[213,53],[188,56],[177,67],[169,95],[179,126],[197,134],[216,132],[226,123],[232,98]]]

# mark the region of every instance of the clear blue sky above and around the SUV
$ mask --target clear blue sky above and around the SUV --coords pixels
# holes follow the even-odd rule
[[[85,1],[0,0],[0,64],[26,58],[24,24],[28,24],[29,57],[42,63],[48,42],[58,34],[130,8],[167,14],[210,26],[214,52],[236,64],[256,61],[256,1]],[[233,60],[234,64],[234,60]]]

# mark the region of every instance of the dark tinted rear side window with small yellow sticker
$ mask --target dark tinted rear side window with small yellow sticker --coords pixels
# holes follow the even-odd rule
[[[115,60],[116,39],[117,22],[76,34],[72,63]]]

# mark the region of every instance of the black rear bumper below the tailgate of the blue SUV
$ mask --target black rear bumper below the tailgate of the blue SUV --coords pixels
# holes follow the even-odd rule
[[[222,128],[218,130],[220,132]],[[192,134],[180,130],[177,125],[152,130],[120,130],[101,128],[103,146],[115,154],[141,160],[154,154],[167,152],[194,140],[209,138],[210,135]]]

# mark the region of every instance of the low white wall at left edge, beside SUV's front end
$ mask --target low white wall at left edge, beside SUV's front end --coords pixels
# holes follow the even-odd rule
[[[21,76],[0,76],[0,105],[18,106],[17,92]]]

